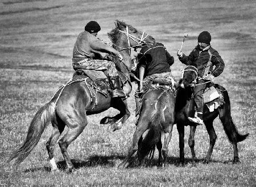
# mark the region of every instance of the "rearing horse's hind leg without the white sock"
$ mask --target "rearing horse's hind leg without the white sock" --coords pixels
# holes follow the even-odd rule
[[[69,114],[69,118],[65,122],[69,129],[59,141],[60,150],[67,164],[68,172],[72,172],[74,166],[71,162],[71,159],[69,158],[67,148],[71,142],[73,142],[82,133],[88,123],[85,113],[84,116],[80,115],[80,117],[75,112],[73,112],[73,114],[75,114],[76,117],[71,117],[71,114]]]

